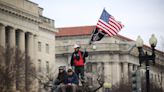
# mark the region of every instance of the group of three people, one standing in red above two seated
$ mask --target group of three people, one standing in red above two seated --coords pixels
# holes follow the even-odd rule
[[[74,45],[74,52],[71,56],[71,68],[66,68],[64,66],[59,67],[59,73],[54,81],[54,92],[66,92],[68,88],[72,90],[72,92],[76,92],[77,87],[79,85],[79,79],[81,79],[81,83],[84,83],[84,65],[85,58],[88,56],[87,51],[81,51],[80,46]]]

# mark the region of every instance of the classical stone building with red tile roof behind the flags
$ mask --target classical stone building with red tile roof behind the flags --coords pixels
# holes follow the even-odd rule
[[[101,72],[104,75],[104,80],[113,85],[121,80],[128,80],[130,73],[139,68],[138,50],[135,41],[121,35],[105,36],[101,41],[88,45],[94,28],[95,26],[58,28],[59,32],[56,35],[56,64],[69,66],[71,53],[74,51],[73,45],[77,43],[81,45],[81,50],[86,48],[89,52],[86,71]],[[144,46],[144,50],[148,53],[151,52],[151,48],[148,46]],[[163,74],[161,73],[161,67],[164,67],[163,57],[164,53],[157,50],[156,65],[151,66],[150,77],[159,86],[164,83],[162,80]],[[145,76],[144,65],[140,70],[141,75]]]

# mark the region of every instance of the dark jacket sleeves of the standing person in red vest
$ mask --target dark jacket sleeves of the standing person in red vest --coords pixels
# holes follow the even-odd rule
[[[84,60],[84,63],[85,63],[85,61],[86,61],[85,58],[88,57],[88,52],[87,51],[85,51],[85,52],[80,51],[80,52],[82,54],[82,57],[83,57],[83,60]],[[76,55],[76,54],[78,54],[78,52],[73,52],[72,53],[72,56],[71,56],[71,66],[74,66],[74,55]],[[79,59],[80,58],[79,55],[76,55],[76,58]]]

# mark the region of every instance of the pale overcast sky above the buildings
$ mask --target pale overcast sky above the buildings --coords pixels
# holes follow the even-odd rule
[[[43,15],[55,20],[55,27],[96,25],[105,8],[125,27],[120,35],[148,44],[151,34],[164,43],[164,0],[31,0],[44,8]],[[163,46],[164,47],[164,46]]]

